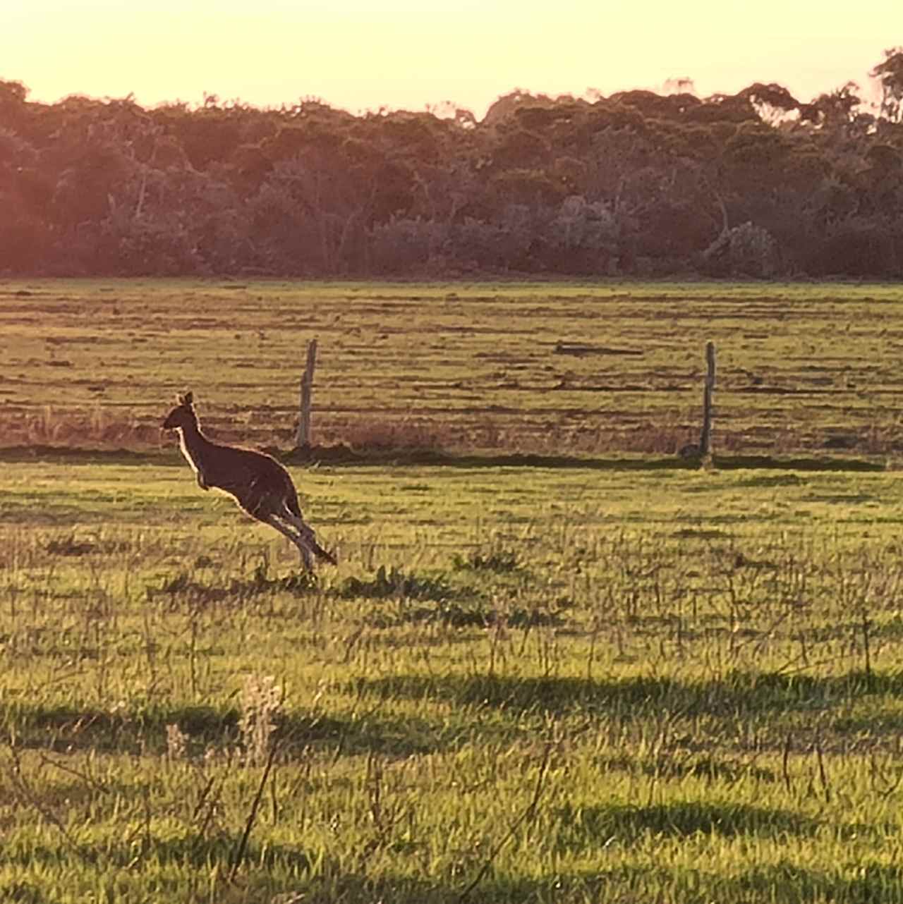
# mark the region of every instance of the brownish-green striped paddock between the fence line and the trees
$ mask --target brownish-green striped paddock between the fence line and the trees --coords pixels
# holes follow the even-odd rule
[[[894,286],[0,282],[4,445],[157,447],[192,388],[223,438],[673,453],[718,348],[722,452],[896,454]]]

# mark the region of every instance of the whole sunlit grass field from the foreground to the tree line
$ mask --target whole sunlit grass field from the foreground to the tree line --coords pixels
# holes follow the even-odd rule
[[[769,289],[9,284],[0,899],[903,901],[903,494],[885,467],[903,332],[886,288]],[[218,355],[214,334],[241,306],[246,335],[255,309],[252,332],[277,323],[292,293],[315,328],[267,326],[282,352],[257,384],[241,344]],[[480,332],[493,318],[474,312],[503,296],[523,333]],[[92,327],[95,304],[130,326],[108,325],[110,307]],[[438,342],[455,305],[442,372],[402,330],[422,322],[421,345]],[[587,308],[606,326],[566,332]],[[329,334],[342,309],[363,334],[385,315],[394,353]],[[129,358],[129,329],[165,346]],[[744,357],[738,329],[766,335],[746,350],[769,363]],[[830,382],[803,383],[794,350],[816,330],[810,361]],[[309,579],[287,542],[158,450],[157,423],[176,389],[203,406],[209,386],[202,416],[221,435],[280,440],[271,422],[290,418],[314,333],[329,441],[469,454],[292,466],[339,557]],[[41,344],[64,335],[81,342]],[[696,468],[655,452],[695,437],[706,338],[730,454]],[[476,357],[493,344],[515,346],[537,391],[494,387]],[[70,363],[49,363],[63,348]],[[583,389],[540,391],[544,360]],[[755,391],[741,369],[761,374]],[[637,389],[599,389],[627,372]],[[487,413],[493,399],[510,411]],[[553,405],[585,411],[596,439]],[[550,455],[512,466],[475,447]],[[743,466],[764,449],[784,466]]]

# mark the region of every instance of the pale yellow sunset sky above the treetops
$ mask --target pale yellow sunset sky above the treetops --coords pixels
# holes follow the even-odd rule
[[[700,96],[775,81],[805,101],[850,80],[867,93],[900,44],[901,0],[0,0],[0,79],[32,100],[145,107],[215,94],[353,113],[451,102],[481,118],[514,89],[679,78]]]

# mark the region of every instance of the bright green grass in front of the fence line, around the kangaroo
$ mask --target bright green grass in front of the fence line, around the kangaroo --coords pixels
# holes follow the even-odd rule
[[[895,901],[890,473],[5,465],[0,897]]]

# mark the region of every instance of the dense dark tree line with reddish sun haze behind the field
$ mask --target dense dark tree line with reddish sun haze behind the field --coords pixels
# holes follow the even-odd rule
[[[306,99],[32,102],[0,81],[0,272],[903,276],[903,48],[756,83],[354,116]]]

